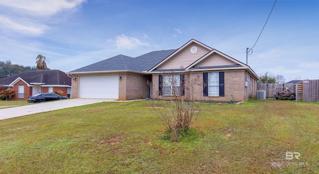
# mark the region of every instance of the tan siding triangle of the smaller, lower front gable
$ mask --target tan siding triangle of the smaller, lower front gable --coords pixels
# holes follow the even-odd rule
[[[203,67],[203,66],[219,66],[219,65],[236,65],[238,63],[229,60],[217,53],[206,57],[204,60],[200,61],[194,67]]]

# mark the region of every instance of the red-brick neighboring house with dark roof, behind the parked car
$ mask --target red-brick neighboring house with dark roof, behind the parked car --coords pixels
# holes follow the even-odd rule
[[[71,78],[60,70],[25,71],[0,79],[0,86],[14,90],[12,100],[27,100],[30,95],[57,90],[70,97]]]

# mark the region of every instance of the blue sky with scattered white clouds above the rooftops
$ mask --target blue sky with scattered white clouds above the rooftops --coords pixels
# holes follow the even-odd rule
[[[243,63],[275,0],[0,0],[0,60],[69,72],[196,39]],[[319,79],[319,0],[277,0],[248,65]]]

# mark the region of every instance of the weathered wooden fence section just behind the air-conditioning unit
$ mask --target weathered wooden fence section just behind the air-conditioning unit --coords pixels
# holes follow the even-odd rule
[[[295,91],[295,85],[293,83],[263,83],[257,84],[257,90],[265,90],[266,98],[275,98],[275,94],[284,91],[286,88],[289,88],[292,91]]]

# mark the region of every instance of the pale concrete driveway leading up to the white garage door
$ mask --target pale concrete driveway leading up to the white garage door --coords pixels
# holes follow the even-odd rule
[[[41,112],[70,108],[75,106],[89,105],[100,102],[116,101],[116,99],[68,99],[54,102],[43,102],[27,106],[0,109],[0,120],[20,117]],[[26,101],[25,101],[26,102]]]

